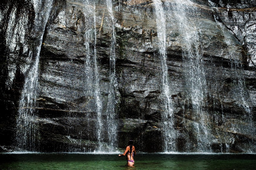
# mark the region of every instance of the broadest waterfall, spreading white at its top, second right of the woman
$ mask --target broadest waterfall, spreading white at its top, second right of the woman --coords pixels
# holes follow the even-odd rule
[[[206,96],[206,78],[201,54],[201,31],[196,28],[195,21],[189,19],[189,13],[195,13],[194,2],[190,0],[174,0],[170,7],[177,20],[177,27],[183,39],[181,39],[182,56],[186,74],[187,93],[193,107],[193,129],[198,145],[196,150],[202,152],[211,151],[211,133],[209,130],[208,113],[204,111],[204,98]]]

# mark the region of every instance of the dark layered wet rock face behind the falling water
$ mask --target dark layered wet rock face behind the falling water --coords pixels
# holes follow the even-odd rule
[[[108,128],[116,126],[117,148],[125,148],[133,138],[140,151],[172,151],[164,147],[162,133],[166,108],[154,3],[112,1],[113,22],[105,1],[40,4],[51,6],[51,12],[29,120],[36,126],[31,133],[36,146],[30,150],[113,151]],[[256,152],[256,1],[179,3],[162,1],[174,151]],[[36,28],[41,24],[36,23],[43,23],[36,22],[34,8],[28,0],[0,5],[2,148],[18,146],[19,102],[40,39]],[[116,114],[110,124],[112,24]]]

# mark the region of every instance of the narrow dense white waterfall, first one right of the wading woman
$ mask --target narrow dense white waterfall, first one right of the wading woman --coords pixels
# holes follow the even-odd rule
[[[166,152],[177,151],[176,138],[177,134],[174,130],[173,106],[170,98],[169,84],[168,84],[168,70],[166,58],[166,22],[165,13],[160,0],[154,0],[155,15],[157,22],[157,36],[159,39],[159,52],[162,66],[162,91],[164,95],[165,111],[162,112],[162,128],[164,136],[164,149]]]

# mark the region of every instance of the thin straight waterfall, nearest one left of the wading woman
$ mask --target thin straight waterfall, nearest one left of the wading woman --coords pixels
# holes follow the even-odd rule
[[[110,151],[115,151],[114,146],[116,144],[117,138],[117,123],[116,123],[116,35],[115,35],[115,27],[114,27],[114,15],[112,10],[112,1],[106,0],[108,13],[111,17],[112,21],[112,37],[111,37],[111,50],[110,50],[110,72],[109,72],[109,80],[110,85],[108,89],[108,104],[107,104],[107,131],[108,131],[108,143],[110,144]]]

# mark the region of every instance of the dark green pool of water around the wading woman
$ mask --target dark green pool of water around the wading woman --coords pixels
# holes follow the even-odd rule
[[[0,169],[256,169],[255,154],[137,154],[135,167],[125,157],[100,154],[0,154]]]

